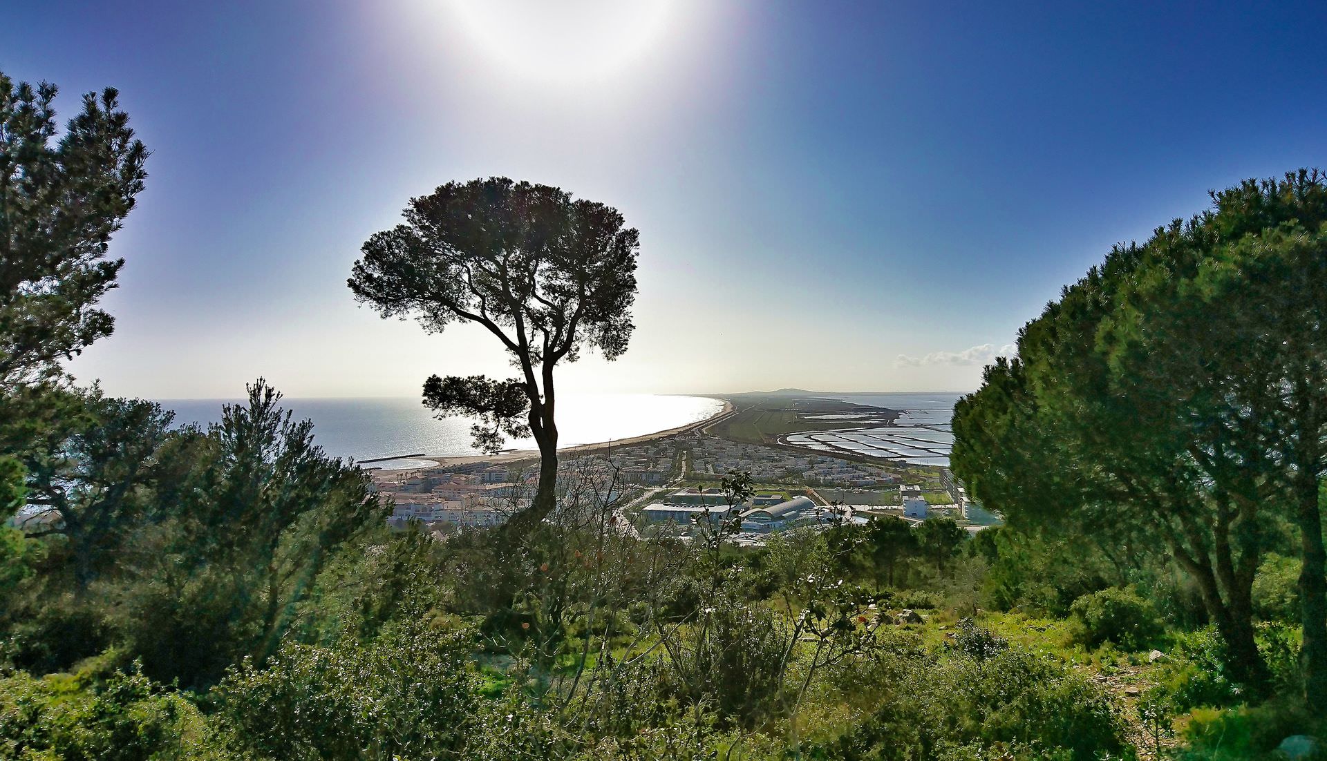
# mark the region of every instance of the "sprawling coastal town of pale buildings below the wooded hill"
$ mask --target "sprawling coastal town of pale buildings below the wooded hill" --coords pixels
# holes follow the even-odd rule
[[[792,426],[807,422],[794,404],[787,406]],[[689,538],[723,521],[738,526],[729,541],[747,546],[760,546],[766,536],[794,528],[865,524],[877,516],[912,524],[950,517],[970,533],[1001,522],[998,514],[967,498],[947,468],[735,440],[721,435],[734,430],[723,424],[734,415],[739,410],[730,407],[681,431],[563,453],[559,481],[564,489],[577,489],[580,498],[564,496],[560,504],[589,502],[610,510],[638,537]],[[374,488],[393,504],[389,525],[418,524],[438,538],[500,525],[529,505],[537,485],[532,453],[438,463],[370,471]],[[754,493],[733,502],[723,481],[739,473],[750,476]]]

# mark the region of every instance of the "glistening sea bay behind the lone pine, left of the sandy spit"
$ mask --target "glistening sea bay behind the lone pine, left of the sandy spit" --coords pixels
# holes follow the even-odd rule
[[[232,399],[162,399],[175,411],[175,422],[215,423],[222,406]],[[480,453],[471,445],[470,420],[438,420],[418,399],[283,399],[296,418],[313,420],[313,440],[340,457],[368,460],[398,455],[456,457]],[[593,444],[629,439],[703,420],[723,403],[705,396],[661,394],[560,394],[557,396],[559,444]],[[512,440],[515,449],[532,449],[531,439]],[[380,467],[414,467],[395,460]]]

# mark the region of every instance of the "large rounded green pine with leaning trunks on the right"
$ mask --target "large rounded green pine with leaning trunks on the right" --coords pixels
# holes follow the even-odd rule
[[[955,408],[954,469],[1014,524],[1164,544],[1254,683],[1250,590],[1290,517],[1308,693],[1327,695],[1327,184],[1299,171],[1212,199],[1023,327]]]

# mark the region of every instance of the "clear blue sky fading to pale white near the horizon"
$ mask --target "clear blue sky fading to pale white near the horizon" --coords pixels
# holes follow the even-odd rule
[[[1323,3],[15,3],[0,72],[115,86],[151,151],[81,382],[411,396],[487,334],[354,304],[411,196],[504,175],[641,231],[572,391],[969,391],[1111,245],[1327,166]]]

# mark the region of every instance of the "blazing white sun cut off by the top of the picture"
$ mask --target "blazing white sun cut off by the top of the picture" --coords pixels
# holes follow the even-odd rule
[[[445,0],[442,17],[511,76],[589,84],[658,53],[685,7],[677,0]]]

